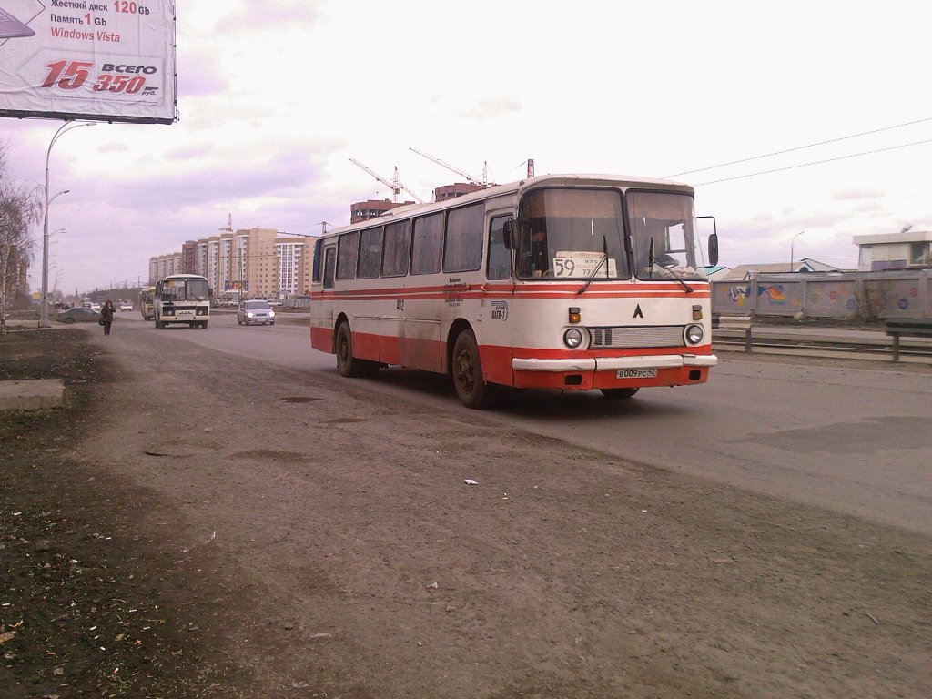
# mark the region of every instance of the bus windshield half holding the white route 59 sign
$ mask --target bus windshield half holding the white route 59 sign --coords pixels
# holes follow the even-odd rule
[[[519,221],[519,278],[630,277],[619,191],[532,190],[521,201]]]

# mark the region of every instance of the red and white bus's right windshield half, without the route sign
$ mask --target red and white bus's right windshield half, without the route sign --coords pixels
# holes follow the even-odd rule
[[[637,278],[705,280],[702,251],[693,226],[692,197],[628,192],[627,200]]]

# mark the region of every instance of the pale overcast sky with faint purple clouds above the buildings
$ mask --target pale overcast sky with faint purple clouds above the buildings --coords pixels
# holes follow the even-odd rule
[[[528,158],[538,174],[678,175],[716,216],[723,264],[788,262],[805,231],[797,259],[857,267],[853,236],[932,226],[922,7],[178,0],[180,120],[76,129],[52,150],[50,191],[71,191],[50,208],[65,230],[49,288],[145,281],[150,256],[227,213],[303,234],[349,223],[351,202],[391,198],[349,158],[390,180],[397,166],[423,199],[462,180],[412,146],[500,183]],[[60,125],[0,118],[17,178],[42,183]]]

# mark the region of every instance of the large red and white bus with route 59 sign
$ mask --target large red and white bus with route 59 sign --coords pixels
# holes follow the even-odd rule
[[[704,383],[718,360],[692,199],[664,180],[544,175],[336,229],[315,247],[311,346],[346,377],[448,373],[474,408],[501,386],[622,399]]]

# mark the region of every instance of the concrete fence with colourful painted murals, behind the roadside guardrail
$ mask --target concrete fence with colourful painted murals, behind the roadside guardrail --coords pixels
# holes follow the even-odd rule
[[[932,318],[932,270],[794,272],[712,282],[712,312],[875,320]]]

